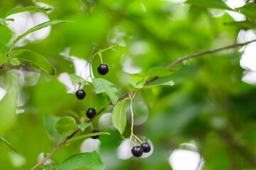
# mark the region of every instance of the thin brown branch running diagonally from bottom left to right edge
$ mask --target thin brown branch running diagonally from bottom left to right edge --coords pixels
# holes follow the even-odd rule
[[[208,50],[208,51],[203,51],[203,52],[198,52],[196,54],[193,54],[193,55],[188,55],[186,57],[181,57],[181,58],[178,58],[177,60],[175,60],[173,63],[169,64],[169,66],[167,66],[167,68],[171,68],[171,67],[174,67],[174,65],[180,63],[180,62],[183,62],[184,60],[187,60],[187,59],[190,59],[190,58],[193,58],[193,57],[198,57],[198,56],[201,56],[201,55],[206,55],[206,54],[210,54],[210,53],[214,53],[214,52],[218,52],[218,51],[221,51],[221,50],[226,50],[226,49],[230,49],[230,48],[235,48],[235,47],[239,47],[239,46],[243,46],[243,45],[247,45],[249,44],[250,42],[255,42],[256,40],[252,40],[252,41],[249,41],[249,42],[244,42],[244,43],[240,43],[240,44],[235,44],[235,45],[228,45],[228,46],[225,46],[225,47],[220,47],[218,49],[215,49],[215,50]],[[153,79],[150,79],[148,81],[146,81],[144,83],[144,86],[146,86],[147,84],[155,81],[156,79],[159,79],[159,77],[154,77]],[[134,89],[135,91],[136,89]],[[129,93],[132,93],[133,91],[128,91],[126,94],[123,94],[122,96],[120,96],[118,98],[118,101],[121,101],[123,98],[127,97],[129,95]],[[111,105],[113,105],[113,103],[110,103]],[[90,119],[90,120],[87,120],[85,123],[90,123],[92,120],[94,120],[97,115],[100,115],[100,113],[102,113],[103,111],[105,111],[106,108],[102,108],[96,115],[94,118]],[[65,145],[65,143],[67,142],[67,140],[69,140],[70,138],[72,138],[80,129],[78,128],[77,130],[75,130],[75,132],[73,132],[73,134],[71,134],[70,136],[68,136],[64,142],[60,143],[60,145],[53,150],[53,152],[51,152],[48,157],[46,157],[45,159],[43,159],[41,162],[39,162],[38,164],[36,164],[36,166],[33,166],[33,169],[36,169],[38,166],[42,165],[42,164],[45,164],[46,163],[46,160],[48,160],[53,154],[55,154],[55,152],[57,152],[60,147],[62,147],[63,145]]]

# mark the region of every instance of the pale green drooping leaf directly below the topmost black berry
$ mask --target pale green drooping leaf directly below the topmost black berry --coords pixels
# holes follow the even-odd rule
[[[102,92],[106,92],[107,95],[110,97],[110,100],[113,103],[117,103],[118,100],[118,90],[112,87],[112,83],[107,81],[106,79],[92,79],[92,85],[95,88],[96,94],[100,94]]]

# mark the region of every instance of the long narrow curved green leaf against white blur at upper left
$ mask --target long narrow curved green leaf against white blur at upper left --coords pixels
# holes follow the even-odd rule
[[[52,20],[52,21],[46,21],[45,23],[41,23],[37,26],[34,26],[33,28],[29,29],[26,31],[26,33],[23,33],[21,35],[19,35],[13,42],[12,46],[15,45],[15,43],[18,41],[18,40],[21,40],[21,38],[25,37],[26,35],[28,35],[29,33],[33,33],[35,32],[36,30],[40,30],[42,28],[45,28],[47,26],[53,26],[57,23],[65,23],[65,22],[70,22],[70,21],[64,21],[64,20]]]

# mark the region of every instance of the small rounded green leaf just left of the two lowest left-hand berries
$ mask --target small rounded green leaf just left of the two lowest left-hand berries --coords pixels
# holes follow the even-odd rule
[[[64,118],[60,118],[60,120],[58,120],[55,128],[60,135],[63,135],[70,130],[78,128],[78,125],[76,125],[74,118],[71,116],[65,116]]]

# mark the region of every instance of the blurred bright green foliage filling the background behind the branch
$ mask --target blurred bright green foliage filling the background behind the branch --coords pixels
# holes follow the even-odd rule
[[[22,155],[17,154],[15,157],[18,158],[14,159],[13,154],[0,149],[1,169],[31,169],[37,164],[40,153],[53,151],[55,145],[45,128],[46,114],[57,122],[57,118],[71,115],[68,110],[80,115],[90,107],[97,111],[102,108],[96,94],[92,93],[92,86],[84,87],[87,96],[80,101],[75,94],[67,94],[65,86],[58,81],[64,72],[75,73],[73,62],[60,55],[65,49],[70,48],[69,56],[88,60],[98,50],[123,38],[120,45],[102,52],[104,63],[110,67],[107,75],[97,74],[99,57],[95,57],[92,63],[95,78],[110,81],[121,96],[128,91],[130,82],[140,80],[124,72],[127,63],[146,75],[152,67],[166,67],[179,57],[234,44],[241,28],[255,29],[255,6],[250,1],[245,8],[235,9],[247,17],[244,23],[234,21],[224,11],[223,15],[215,17],[215,9],[208,8],[210,4],[198,4],[192,0],[186,4],[161,0],[1,0],[0,18],[17,6],[35,6],[36,2],[52,6],[53,11],[48,13],[50,20],[74,22],[53,26],[48,38],[22,47],[46,57],[56,69],[54,76],[33,71],[26,62],[20,66],[6,64],[0,69],[0,87],[4,89],[10,84],[6,83],[6,77],[11,69],[40,72],[38,80],[28,75],[25,83],[18,81],[18,101],[23,101],[18,109],[23,109],[23,113],[9,118],[13,116],[11,110],[14,108],[10,108],[8,103],[0,103],[0,122],[11,121],[8,125],[11,128],[2,137]],[[230,10],[220,1],[211,0],[211,3],[215,8]],[[0,23],[4,25],[6,22],[1,20]],[[0,33],[0,36],[4,35]],[[8,51],[8,47],[4,50]],[[174,86],[154,87],[152,91],[143,91],[142,96],[138,94],[134,102],[144,98],[149,107],[149,117],[142,125],[135,125],[134,133],[149,138],[154,152],[146,159],[118,159],[116,150],[122,139],[117,130],[107,130],[111,135],[100,137],[100,157],[105,169],[171,169],[168,162],[170,152],[191,141],[196,142],[205,160],[203,170],[256,168],[256,89],[241,80],[241,55],[238,49],[232,49],[187,60],[172,68],[176,72],[169,75],[169,79],[174,81]],[[3,56],[1,54],[0,59]],[[36,79],[35,84],[33,79]],[[16,93],[14,86],[9,86],[4,101],[16,102],[15,96],[10,97],[11,93]],[[149,96],[154,96],[154,100]],[[92,122],[95,128],[99,118]],[[127,120],[124,137],[129,137],[130,133],[130,120]],[[90,130],[86,129],[80,133],[88,132]],[[81,143],[64,146],[51,159],[60,164],[79,154]]]

